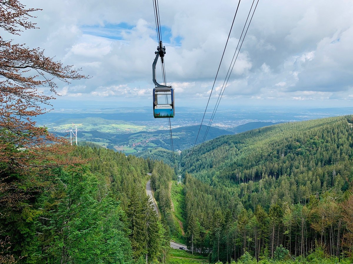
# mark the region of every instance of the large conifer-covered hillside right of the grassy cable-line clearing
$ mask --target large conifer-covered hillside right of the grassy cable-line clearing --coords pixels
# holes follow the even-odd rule
[[[187,240],[210,259],[350,254],[353,116],[289,122],[184,151]],[[202,201],[202,202],[200,202]]]

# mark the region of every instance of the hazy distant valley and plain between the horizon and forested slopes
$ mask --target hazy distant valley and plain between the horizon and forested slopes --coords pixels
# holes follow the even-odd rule
[[[202,119],[202,109],[180,107],[171,119],[175,151],[182,151],[195,144]],[[92,142],[104,148],[123,153],[146,156],[161,148],[171,150],[170,133],[166,120],[152,117],[149,108],[99,108],[58,109],[34,120],[50,132],[70,138],[70,130],[78,125],[78,141]],[[90,112],[91,111],[91,112]],[[244,132],[254,128],[353,112],[353,108],[282,109],[239,108],[220,109],[217,120],[212,123],[205,140],[218,136]],[[207,113],[210,114],[210,113]],[[206,115],[207,116],[207,115]],[[208,121],[201,127],[196,144],[203,141]],[[73,135],[72,135],[73,136]]]

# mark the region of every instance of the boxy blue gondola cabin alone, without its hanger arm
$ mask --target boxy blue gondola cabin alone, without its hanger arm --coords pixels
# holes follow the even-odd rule
[[[153,89],[153,116],[155,118],[174,117],[174,89]]]

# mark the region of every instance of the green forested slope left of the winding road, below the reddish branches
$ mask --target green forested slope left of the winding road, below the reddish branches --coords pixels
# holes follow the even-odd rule
[[[164,261],[169,228],[142,181],[160,162],[103,148],[75,147],[79,163],[27,170],[1,165],[1,263]],[[169,170],[168,170],[169,168]],[[164,177],[164,175],[162,175]],[[162,195],[160,195],[162,197]]]

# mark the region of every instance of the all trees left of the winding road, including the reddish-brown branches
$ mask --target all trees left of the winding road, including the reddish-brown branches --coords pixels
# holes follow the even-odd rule
[[[32,12],[0,2],[0,29],[34,30]],[[0,37],[0,263],[165,262],[169,230],[142,184],[158,162],[73,147],[38,127],[57,82],[79,69]]]

